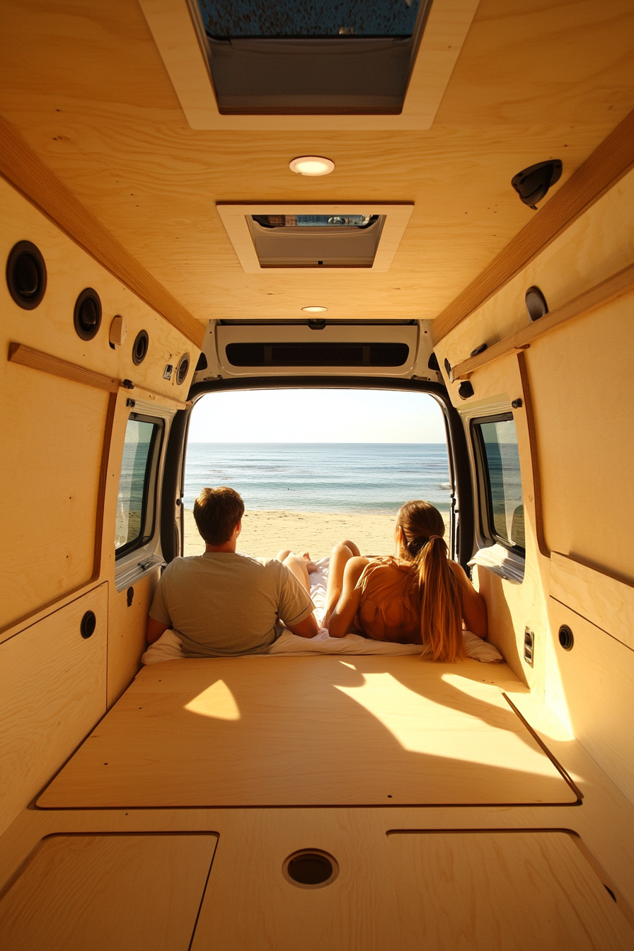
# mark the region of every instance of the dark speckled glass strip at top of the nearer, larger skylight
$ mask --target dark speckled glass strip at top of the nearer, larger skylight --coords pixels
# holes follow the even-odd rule
[[[198,0],[202,23],[218,40],[413,34],[420,0]]]

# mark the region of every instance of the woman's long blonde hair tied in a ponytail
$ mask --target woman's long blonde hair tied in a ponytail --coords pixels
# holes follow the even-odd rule
[[[462,597],[448,561],[442,515],[429,502],[407,502],[397,515],[405,553],[413,561],[420,589],[420,632],[434,660],[465,656]]]

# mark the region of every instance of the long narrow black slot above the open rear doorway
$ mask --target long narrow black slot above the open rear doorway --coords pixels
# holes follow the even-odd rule
[[[229,343],[232,366],[403,366],[407,343]]]

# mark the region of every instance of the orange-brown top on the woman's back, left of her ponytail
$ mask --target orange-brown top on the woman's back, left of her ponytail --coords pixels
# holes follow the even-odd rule
[[[412,565],[395,558],[372,561],[356,587],[361,589],[357,630],[375,641],[422,644],[420,589]]]

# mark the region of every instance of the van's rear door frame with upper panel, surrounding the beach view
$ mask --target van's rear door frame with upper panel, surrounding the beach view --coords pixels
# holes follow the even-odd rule
[[[427,393],[442,408],[451,480],[451,557],[473,550],[471,471],[462,421],[432,353],[431,321],[211,320],[189,393],[237,389],[359,388]],[[172,425],[164,467],[162,547],[183,554],[183,476],[188,419]]]

